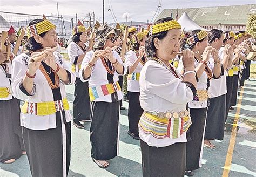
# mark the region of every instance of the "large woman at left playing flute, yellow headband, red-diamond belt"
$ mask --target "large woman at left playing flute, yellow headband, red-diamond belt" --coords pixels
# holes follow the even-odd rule
[[[51,49],[57,46],[55,28],[46,19],[31,21],[26,44],[30,52],[12,62],[12,90],[25,101],[21,126],[32,176],[67,176],[70,165],[72,115],[65,85],[76,76]]]

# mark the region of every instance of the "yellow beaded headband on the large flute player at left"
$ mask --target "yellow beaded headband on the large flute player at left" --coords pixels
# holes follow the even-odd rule
[[[28,26],[27,28],[28,38],[31,38],[36,35],[40,35],[46,31],[49,31],[55,28],[56,28],[55,25],[53,25],[47,19],[44,19],[42,22]]]

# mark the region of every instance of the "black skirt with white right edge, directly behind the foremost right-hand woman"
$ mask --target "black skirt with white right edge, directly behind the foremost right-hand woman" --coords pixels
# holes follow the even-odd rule
[[[201,167],[206,112],[207,108],[190,108],[192,121],[190,137],[192,140],[188,141],[186,146],[186,170],[194,170]]]

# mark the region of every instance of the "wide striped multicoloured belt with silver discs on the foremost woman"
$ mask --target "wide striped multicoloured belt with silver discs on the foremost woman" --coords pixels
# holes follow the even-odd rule
[[[159,116],[160,117],[159,117]],[[144,111],[139,120],[139,128],[145,134],[157,139],[179,138],[191,125],[189,110],[167,113]]]

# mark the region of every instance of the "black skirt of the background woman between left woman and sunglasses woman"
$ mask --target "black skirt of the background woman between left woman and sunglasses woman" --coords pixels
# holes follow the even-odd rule
[[[73,101],[74,120],[90,120],[91,106],[88,85],[88,82],[83,83],[80,78],[76,78]]]

